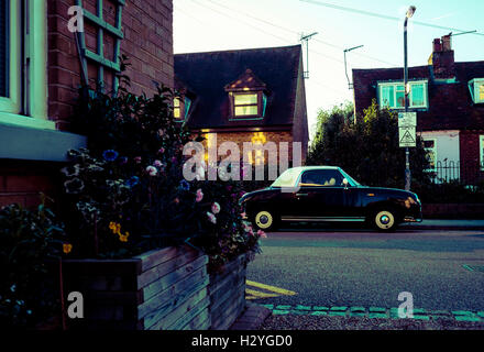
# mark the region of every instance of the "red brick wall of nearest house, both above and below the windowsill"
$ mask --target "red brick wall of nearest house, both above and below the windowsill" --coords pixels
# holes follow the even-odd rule
[[[74,34],[67,29],[68,8],[75,0],[47,0],[47,84],[48,118],[56,121],[59,130],[69,130],[69,117],[81,84],[80,64]],[[85,9],[96,13],[96,0],[84,0]],[[114,24],[114,4],[103,0],[103,18]],[[129,57],[132,66],[125,72],[131,78],[131,91],[156,91],[153,82],[173,87],[173,1],[172,0],[127,0],[122,12],[121,54]],[[96,52],[96,31],[85,22],[86,45]],[[105,53],[112,53],[113,38],[105,34]],[[112,57],[110,57],[112,59]],[[88,61],[89,62],[89,61]],[[105,80],[107,88],[112,76],[109,72]],[[88,65],[90,82],[96,81],[97,66]],[[19,202],[34,206],[38,194],[55,196],[61,186],[58,170],[61,165],[34,163],[29,161],[0,161],[0,207]]]

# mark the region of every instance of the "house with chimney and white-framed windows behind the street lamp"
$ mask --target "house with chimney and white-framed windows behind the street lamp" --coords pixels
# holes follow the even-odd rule
[[[451,38],[433,41],[428,65],[409,67],[409,111],[438,179],[475,184],[484,177],[484,61],[455,63]],[[372,99],[403,111],[403,78],[402,67],[353,69],[356,116]]]

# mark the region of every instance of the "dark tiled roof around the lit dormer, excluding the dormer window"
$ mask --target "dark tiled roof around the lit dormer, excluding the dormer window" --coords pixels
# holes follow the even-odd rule
[[[195,94],[188,125],[193,129],[292,127],[301,59],[300,45],[175,55],[175,76]],[[250,79],[250,78],[253,79]],[[229,121],[228,85],[250,80],[264,87],[263,120]],[[182,88],[182,87],[177,87]]]

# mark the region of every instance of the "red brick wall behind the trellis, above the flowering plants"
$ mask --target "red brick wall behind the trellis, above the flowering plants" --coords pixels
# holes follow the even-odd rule
[[[68,130],[68,118],[77,88],[81,84],[80,65],[74,34],[68,31],[68,8],[75,0],[47,0],[48,26],[48,116],[62,130]],[[96,0],[84,0],[85,9],[96,13]],[[105,20],[114,25],[114,4],[103,0]],[[122,11],[121,54],[129,57],[125,74],[134,94],[155,92],[153,81],[173,87],[173,1],[127,0]],[[96,52],[96,29],[85,21],[86,46]],[[112,59],[113,38],[105,33],[105,56]],[[109,55],[109,56],[108,56]],[[97,79],[97,64],[88,61],[91,84]],[[112,75],[105,69],[107,89]]]

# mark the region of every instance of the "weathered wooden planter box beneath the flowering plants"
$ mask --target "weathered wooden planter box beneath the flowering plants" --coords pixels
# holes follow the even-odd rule
[[[64,295],[84,296],[70,329],[227,329],[244,308],[245,255],[209,275],[208,256],[189,246],[130,260],[63,261]],[[69,301],[66,300],[66,306]]]

